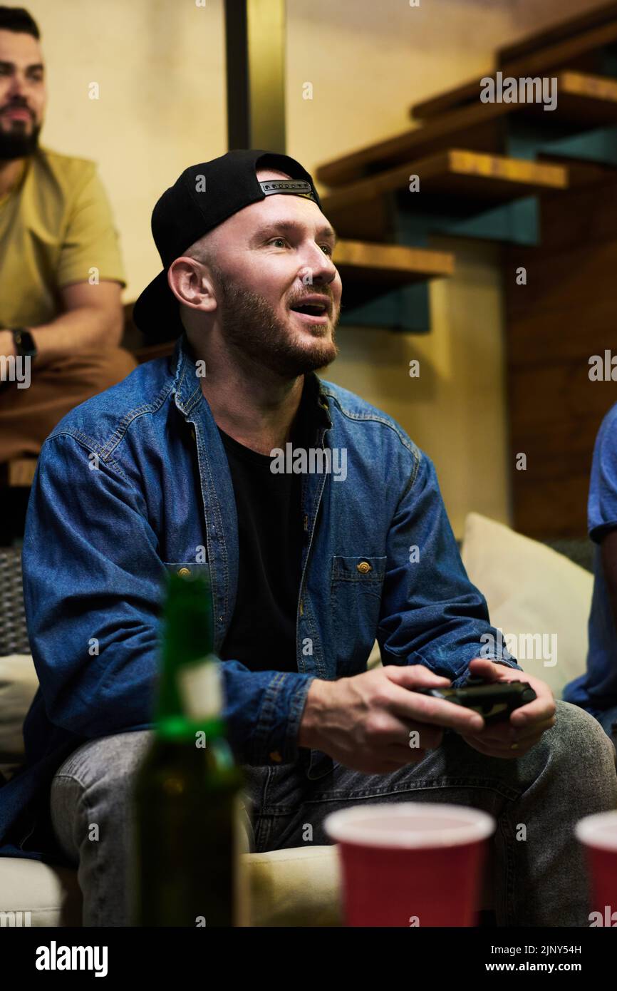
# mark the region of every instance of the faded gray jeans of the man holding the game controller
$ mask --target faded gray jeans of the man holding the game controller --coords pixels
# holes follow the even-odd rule
[[[63,762],[51,784],[51,822],[78,871],[84,926],[129,925],[132,782],[151,730],[90,740]],[[311,781],[299,764],[248,767],[246,849],[262,852],[330,843],[325,817],[352,805],[447,802],[497,821],[491,839],[498,926],[588,926],[587,874],[573,826],[617,809],[615,747],[592,716],[557,703],[557,722],[515,760],[485,757],[447,730],[417,764],[383,775],[335,763]],[[89,838],[89,826],[99,838]],[[312,829],[307,829],[311,826]],[[524,826],[524,828],[523,828]]]

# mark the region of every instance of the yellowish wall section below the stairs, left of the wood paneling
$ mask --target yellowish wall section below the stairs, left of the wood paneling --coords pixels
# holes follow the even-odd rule
[[[432,246],[457,251],[457,275],[433,282],[431,333],[341,328],[324,378],[385,409],[430,455],[459,537],[471,510],[508,522],[501,295],[491,247]]]

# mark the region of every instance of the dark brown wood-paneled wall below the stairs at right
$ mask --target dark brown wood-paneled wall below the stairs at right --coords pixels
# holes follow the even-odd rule
[[[540,247],[504,248],[513,526],[531,537],[586,534],[595,436],[617,402],[617,381],[589,380],[592,355],[608,350],[617,365],[617,176],[607,174],[543,197]]]

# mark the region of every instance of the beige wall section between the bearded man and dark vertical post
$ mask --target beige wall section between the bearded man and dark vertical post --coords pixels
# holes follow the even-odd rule
[[[42,142],[93,159],[112,201],[135,299],[160,269],[154,203],[179,173],[227,151],[221,0],[32,0],[49,109]],[[98,82],[100,99],[88,98]]]

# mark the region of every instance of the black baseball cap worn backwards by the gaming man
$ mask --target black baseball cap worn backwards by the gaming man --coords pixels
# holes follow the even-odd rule
[[[286,172],[290,179],[257,180],[257,168]],[[162,272],[138,297],[133,319],[149,341],[168,341],[182,333],[178,301],[167,284],[167,270],[199,238],[234,213],[274,193],[312,199],[321,209],[309,172],[288,155],[239,149],[212,162],[189,165],[153,210],[154,244]]]

